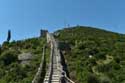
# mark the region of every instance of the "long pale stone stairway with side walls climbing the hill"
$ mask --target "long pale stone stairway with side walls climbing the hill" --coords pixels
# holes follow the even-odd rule
[[[62,65],[63,60],[60,54],[60,50],[58,49],[58,43],[54,39],[53,35],[50,33],[47,33],[47,42],[51,46],[51,52],[50,52],[51,54],[50,54],[50,62],[45,77],[43,81],[40,80],[41,71],[43,68],[42,66],[40,66],[32,83],[74,83],[66,75],[66,71],[64,70],[64,65]],[[42,61],[44,61],[44,59]],[[41,64],[42,63],[43,62],[41,62]]]

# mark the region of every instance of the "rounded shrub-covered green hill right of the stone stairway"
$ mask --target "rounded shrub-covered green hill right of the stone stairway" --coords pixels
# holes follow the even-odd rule
[[[55,37],[71,50],[60,47],[71,79],[76,83],[124,83],[125,35],[92,27],[58,30]]]

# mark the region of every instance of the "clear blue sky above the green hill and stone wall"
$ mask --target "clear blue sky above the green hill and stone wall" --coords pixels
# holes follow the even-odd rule
[[[0,43],[39,36],[66,25],[125,33],[125,0],[0,0]]]

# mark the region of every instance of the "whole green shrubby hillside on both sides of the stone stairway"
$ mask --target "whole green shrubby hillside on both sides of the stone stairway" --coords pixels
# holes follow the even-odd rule
[[[85,26],[53,34],[75,83],[125,83],[125,35]],[[0,47],[0,83],[31,83],[45,44],[45,36],[4,42]],[[46,62],[49,52],[46,48]]]

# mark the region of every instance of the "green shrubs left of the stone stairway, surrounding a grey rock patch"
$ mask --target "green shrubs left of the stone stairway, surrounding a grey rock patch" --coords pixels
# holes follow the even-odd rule
[[[0,47],[0,83],[31,83],[41,62],[45,37],[4,42]],[[29,53],[29,64],[22,64],[20,54]],[[25,54],[24,54],[25,55]]]

